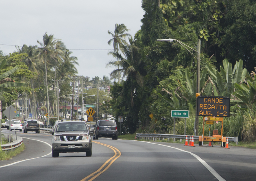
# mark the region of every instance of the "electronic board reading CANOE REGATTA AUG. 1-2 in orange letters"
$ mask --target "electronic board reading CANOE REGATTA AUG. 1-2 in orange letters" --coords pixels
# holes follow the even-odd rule
[[[198,96],[197,116],[228,117],[230,110],[229,97]]]

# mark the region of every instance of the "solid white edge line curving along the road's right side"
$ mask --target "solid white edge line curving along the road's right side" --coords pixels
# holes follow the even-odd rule
[[[141,141],[140,141],[141,142]],[[142,141],[143,142],[143,141]],[[145,143],[150,143],[150,144],[156,144],[156,143],[152,143],[152,142],[145,142]],[[210,165],[208,165],[208,163],[206,163],[202,158],[200,158],[198,155],[190,152],[190,151],[185,151],[185,150],[182,150],[180,148],[175,148],[175,147],[172,147],[172,146],[167,146],[167,145],[162,145],[162,144],[156,144],[156,145],[161,145],[161,146],[166,146],[166,147],[169,147],[169,148],[174,148],[176,150],[180,150],[180,151],[183,151],[183,152],[186,152],[186,153],[190,153],[191,155],[193,155],[196,159],[198,159],[198,161],[200,161],[209,171],[210,173],[212,173],[212,175],[214,177],[216,177],[216,179],[218,179],[219,181],[226,181],[225,179],[223,179]]]

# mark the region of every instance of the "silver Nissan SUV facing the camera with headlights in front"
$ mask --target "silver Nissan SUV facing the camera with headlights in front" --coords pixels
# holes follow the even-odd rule
[[[82,120],[62,120],[57,123],[52,136],[52,157],[60,153],[86,152],[92,156],[92,139],[87,124]]]

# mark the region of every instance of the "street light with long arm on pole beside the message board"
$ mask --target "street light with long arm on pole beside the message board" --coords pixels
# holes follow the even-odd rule
[[[182,43],[181,41],[179,41],[177,39],[172,39],[172,38],[157,39],[156,41],[172,42],[173,40],[177,41],[178,43],[180,43],[180,45],[182,45],[182,47],[184,47],[188,51],[189,51],[189,49],[192,49],[191,47],[189,47],[188,45]],[[192,49],[192,50],[197,53],[197,56],[195,56],[191,51],[189,51],[197,59],[197,71],[196,71],[196,109],[197,109],[197,95],[199,95],[199,91],[200,91],[200,53],[201,53],[201,40],[200,39],[198,39],[198,42],[197,42],[197,51],[194,50],[194,49]],[[195,130],[194,130],[195,131],[195,135],[198,135],[198,127],[199,127],[199,119],[198,119],[198,116],[196,116]]]

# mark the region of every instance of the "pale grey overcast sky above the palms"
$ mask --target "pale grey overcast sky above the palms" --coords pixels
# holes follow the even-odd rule
[[[144,11],[141,0],[5,0],[0,5],[0,50],[16,51],[10,45],[38,45],[44,33],[61,39],[78,58],[78,75],[106,75],[113,60],[107,49],[115,24],[124,24],[132,36],[140,30]],[[83,49],[83,50],[78,50]]]

